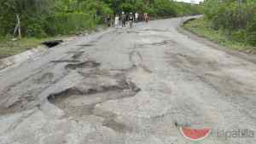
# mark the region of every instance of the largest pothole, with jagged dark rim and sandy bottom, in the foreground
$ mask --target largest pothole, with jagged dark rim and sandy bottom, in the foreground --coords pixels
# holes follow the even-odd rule
[[[133,82],[126,80],[125,74],[88,75],[83,82],[69,89],[48,96],[48,101],[61,108],[68,118],[83,122],[92,118],[103,118],[102,126],[119,132],[129,132],[131,127],[116,121],[116,114],[96,108],[108,101],[117,101],[137,95],[141,90]],[[93,81],[93,82],[92,82]],[[93,122],[93,120],[92,120]],[[93,122],[96,123],[96,122]]]

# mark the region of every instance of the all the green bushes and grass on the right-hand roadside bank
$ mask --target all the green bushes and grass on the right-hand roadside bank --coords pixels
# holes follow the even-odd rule
[[[206,0],[204,6],[205,17],[191,21],[187,28],[224,46],[255,51],[255,0]]]

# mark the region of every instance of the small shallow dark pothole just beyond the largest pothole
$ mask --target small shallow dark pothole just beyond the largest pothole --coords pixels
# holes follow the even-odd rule
[[[101,66],[100,62],[96,62],[94,60],[88,60],[77,64],[68,64],[66,69],[78,69],[78,68],[95,68],[97,66]]]

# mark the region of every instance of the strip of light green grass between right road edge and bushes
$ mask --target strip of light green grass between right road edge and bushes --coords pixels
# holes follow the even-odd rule
[[[247,50],[252,49],[251,46],[248,46],[246,43],[236,42],[231,40],[228,35],[223,31],[218,30],[214,31],[211,27],[211,23],[204,18],[191,20],[183,26],[185,29],[193,32],[201,37],[206,37],[212,42],[219,43],[220,45],[236,50]]]

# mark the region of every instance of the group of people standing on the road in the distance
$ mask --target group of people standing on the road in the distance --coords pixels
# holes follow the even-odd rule
[[[108,20],[108,26],[111,26],[111,18],[110,16],[108,16],[107,18]],[[148,14],[138,14],[138,13],[128,13],[125,14],[125,12],[122,12],[121,14],[116,14],[114,17],[114,27],[119,28],[125,28],[125,27],[133,27],[133,23],[134,22],[138,22],[139,20],[144,20],[146,22],[148,22],[149,17]]]

